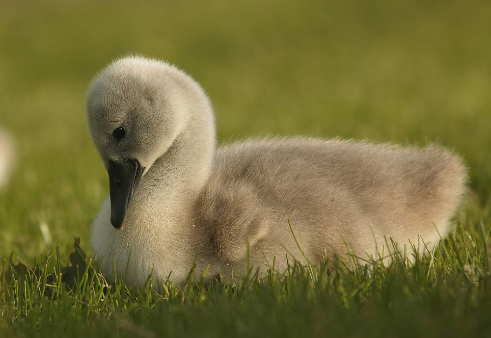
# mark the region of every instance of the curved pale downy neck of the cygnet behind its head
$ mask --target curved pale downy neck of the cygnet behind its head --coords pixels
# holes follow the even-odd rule
[[[181,103],[186,124],[142,177],[136,199],[166,201],[172,204],[168,210],[182,210],[203,189],[215,156],[215,123],[208,98],[200,88],[194,92],[192,101]]]

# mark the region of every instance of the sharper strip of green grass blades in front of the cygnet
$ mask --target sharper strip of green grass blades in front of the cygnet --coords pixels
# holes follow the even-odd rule
[[[233,279],[214,276],[209,281],[195,271],[195,278],[181,285],[172,278],[155,285],[150,276],[139,290],[107,281],[80,248],[70,255],[70,267],[54,250],[34,267],[4,263],[3,325],[15,324],[6,326],[9,332],[26,337],[61,334],[67,328],[81,330],[75,337],[88,332],[114,336],[111,330],[122,337],[136,332],[184,337],[229,337],[230,332],[239,337],[480,336],[491,326],[485,315],[491,302],[491,240],[484,230],[489,224],[475,225],[463,216],[469,223],[428,248],[428,255],[395,251],[388,266],[372,261],[352,268],[329,257],[322,266],[292,261],[284,271],[263,275],[251,268],[247,276]]]

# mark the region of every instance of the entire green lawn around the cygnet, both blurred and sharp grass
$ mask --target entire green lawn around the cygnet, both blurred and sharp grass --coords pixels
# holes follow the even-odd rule
[[[486,0],[0,1],[0,125],[18,152],[0,191],[0,336],[489,336],[490,16]],[[455,232],[414,264],[397,256],[370,273],[329,257],[330,271],[235,283],[106,281],[88,243],[107,173],[84,95],[128,52],[195,77],[221,142],[307,134],[455,149],[470,173]],[[16,257],[25,264],[11,268]]]

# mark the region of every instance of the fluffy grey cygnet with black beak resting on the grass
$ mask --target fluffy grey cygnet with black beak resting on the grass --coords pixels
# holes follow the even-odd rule
[[[109,172],[109,198],[93,224],[103,272],[142,286],[182,281],[276,257],[378,257],[386,238],[433,246],[449,233],[465,189],[462,160],[418,149],[309,138],[246,140],[216,149],[203,89],[168,63],[129,56],[93,79],[87,119]],[[439,233],[439,234],[438,234]],[[390,243],[390,241],[389,241]],[[247,248],[249,246],[249,255]],[[291,261],[291,257],[290,257]]]

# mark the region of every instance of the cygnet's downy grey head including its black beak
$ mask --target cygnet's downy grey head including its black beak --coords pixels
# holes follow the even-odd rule
[[[142,175],[186,126],[187,82],[194,83],[163,61],[128,56],[109,64],[89,86],[87,122],[109,173],[116,229],[122,228]]]

